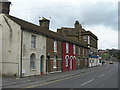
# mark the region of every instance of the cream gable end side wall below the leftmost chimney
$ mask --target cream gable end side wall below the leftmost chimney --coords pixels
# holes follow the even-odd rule
[[[4,14],[0,14],[2,20],[2,74],[19,75],[20,74],[20,26],[10,20]],[[1,63],[1,62],[0,62]]]

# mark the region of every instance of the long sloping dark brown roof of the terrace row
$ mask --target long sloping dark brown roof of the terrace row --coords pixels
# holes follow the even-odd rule
[[[32,24],[30,22],[19,19],[17,17],[7,15],[7,14],[5,14],[5,15],[8,18],[10,18],[11,20],[13,20],[15,23],[20,25],[21,29],[23,29],[23,30],[26,30],[26,31],[29,31],[29,32],[34,32],[34,33],[37,33],[37,34],[42,34],[43,36],[46,36],[48,38],[53,38],[53,39],[56,39],[56,40],[60,40],[60,41],[63,41],[63,42],[69,42],[69,43],[73,43],[73,44],[76,44],[76,45],[84,47],[84,48],[88,48],[87,46],[85,46],[81,43],[78,43],[76,41],[72,41],[72,40],[64,37],[63,35],[61,35],[59,33],[53,32],[51,30],[43,29],[42,27],[40,27],[38,25]]]

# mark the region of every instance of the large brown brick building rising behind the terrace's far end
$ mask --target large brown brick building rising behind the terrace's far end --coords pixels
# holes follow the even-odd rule
[[[80,48],[80,51],[82,51],[82,55],[77,57],[77,63],[78,61],[82,60],[85,63],[85,65],[82,64],[84,67],[84,66],[89,66],[89,64],[91,63],[98,62],[98,61],[95,62],[96,60],[98,60],[98,56],[97,56],[98,38],[92,32],[86,31],[84,28],[82,28],[81,24],[79,24],[78,21],[75,22],[74,28],[62,27],[61,29],[57,29],[57,32],[59,34],[64,35],[66,38],[82,43],[83,45],[86,45],[88,48],[90,48],[90,50],[87,50],[85,48]]]

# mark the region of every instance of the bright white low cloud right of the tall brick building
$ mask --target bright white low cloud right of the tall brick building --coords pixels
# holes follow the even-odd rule
[[[103,25],[88,27],[86,29],[90,29],[95,35],[98,36],[99,49],[118,49],[118,31]]]

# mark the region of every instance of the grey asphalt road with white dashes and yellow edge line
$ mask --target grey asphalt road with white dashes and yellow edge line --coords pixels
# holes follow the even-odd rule
[[[69,77],[34,81],[11,85],[9,88],[118,88],[118,64],[106,64],[103,68]],[[4,87],[6,88],[6,87]]]

